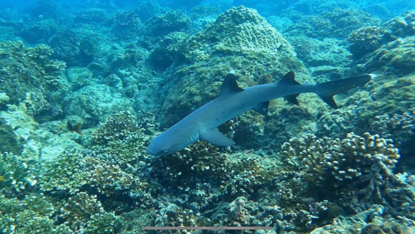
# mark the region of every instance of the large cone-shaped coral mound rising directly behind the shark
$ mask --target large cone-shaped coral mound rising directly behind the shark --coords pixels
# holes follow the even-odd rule
[[[162,127],[216,97],[223,77],[232,69],[241,87],[270,83],[290,69],[305,72],[288,41],[256,10],[243,6],[219,15],[185,45],[178,52],[190,65],[176,69],[169,79],[167,85],[172,88],[159,115]]]

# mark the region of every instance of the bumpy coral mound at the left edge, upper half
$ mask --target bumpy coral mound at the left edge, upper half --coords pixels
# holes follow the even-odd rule
[[[27,113],[62,115],[62,95],[68,91],[62,61],[50,59],[49,46],[27,47],[22,41],[0,43],[0,92],[6,93],[9,103],[25,102]]]

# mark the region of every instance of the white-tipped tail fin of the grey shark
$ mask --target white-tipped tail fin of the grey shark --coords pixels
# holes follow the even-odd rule
[[[351,90],[352,88],[356,88],[358,86],[364,86],[369,80],[376,77],[374,74],[368,75],[361,75],[358,77],[351,77],[347,79],[340,79],[336,81],[329,81],[324,82],[322,84],[316,85],[315,93],[319,95],[326,104],[329,104],[332,108],[337,109],[338,106],[335,104],[333,99],[333,95],[336,95],[340,92],[346,92],[347,90]]]

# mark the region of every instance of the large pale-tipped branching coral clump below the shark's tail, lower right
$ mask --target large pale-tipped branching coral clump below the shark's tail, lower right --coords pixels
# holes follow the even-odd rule
[[[400,155],[391,140],[369,133],[362,137],[349,133],[344,139],[309,140],[313,138],[284,144],[283,155],[304,162],[298,165],[299,170],[305,170],[308,177],[319,178],[324,182],[320,186],[334,190],[344,206],[361,211],[373,204],[382,204],[391,213],[408,211],[407,216],[412,217],[414,211],[403,204],[413,202],[415,193],[410,184],[397,179],[393,173]]]

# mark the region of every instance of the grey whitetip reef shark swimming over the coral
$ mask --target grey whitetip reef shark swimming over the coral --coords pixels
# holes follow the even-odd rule
[[[321,84],[299,84],[295,81],[294,72],[290,71],[277,83],[240,88],[237,84],[237,76],[232,70],[225,76],[218,97],[154,137],[147,147],[147,153],[173,154],[198,140],[216,146],[233,146],[235,142],[220,133],[217,127],[241,113],[255,110],[261,115],[267,115],[270,100],[279,97],[284,97],[292,104],[298,105],[297,96],[306,92],[315,93],[331,108],[337,109],[334,95],[365,86],[374,77],[376,75],[366,74]]]

